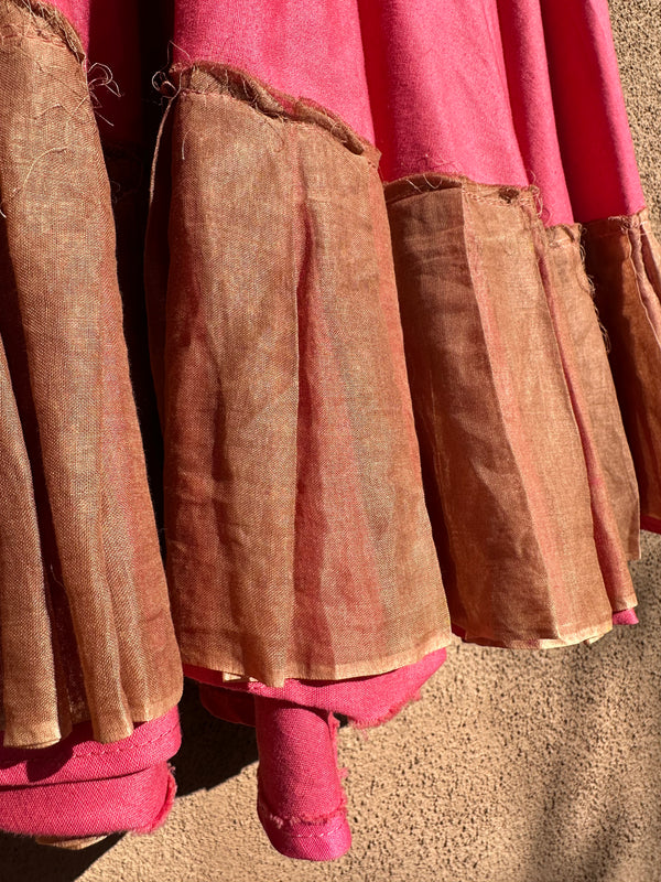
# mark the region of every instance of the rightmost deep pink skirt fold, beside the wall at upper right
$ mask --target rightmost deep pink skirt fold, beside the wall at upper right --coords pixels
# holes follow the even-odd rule
[[[644,205],[607,0],[541,0],[560,147],[578,223]]]

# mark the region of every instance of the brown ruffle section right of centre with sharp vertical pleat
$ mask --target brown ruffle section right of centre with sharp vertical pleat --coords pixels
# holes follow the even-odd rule
[[[453,625],[592,639],[636,605],[638,497],[574,228],[534,193],[386,187],[427,508]]]

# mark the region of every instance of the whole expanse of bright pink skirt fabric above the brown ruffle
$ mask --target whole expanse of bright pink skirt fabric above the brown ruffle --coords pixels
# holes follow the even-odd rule
[[[387,181],[535,184],[548,225],[643,206],[606,0],[177,0],[174,43],[338,114]]]

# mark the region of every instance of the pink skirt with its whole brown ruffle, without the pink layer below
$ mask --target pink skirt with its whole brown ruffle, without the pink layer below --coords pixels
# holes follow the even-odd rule
[[[281,688],[631,616],[661,259],[605,0],[176,2],[132,377],[137,13],[112,122],[93,6],[0,2],[6,743],[126,738],[182,659]]]

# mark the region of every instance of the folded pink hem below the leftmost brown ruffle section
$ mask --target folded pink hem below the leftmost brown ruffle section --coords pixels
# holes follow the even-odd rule
[[[83,724],[51,747],[0,747],[0,829],[69,838],[150,832],[172,807],[166,761],[180,743],[174,708],[110,744],[93,741]]]

